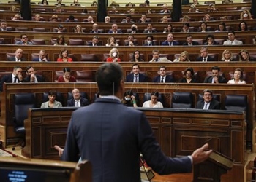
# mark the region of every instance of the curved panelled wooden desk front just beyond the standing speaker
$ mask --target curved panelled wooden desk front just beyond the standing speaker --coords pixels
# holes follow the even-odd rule
[[[31,109],[25,121],[26,146],[23,156],[35,159],[59,159],[53,148],[58,141],[64,147],[67,126],[75,108]],[[166,156],[181,157],[207,143],[231,159],[233,168],[224,174],[228,181],[244,181],[246,154],[243,113],[196,111],[195,109],[139,108],[146,114],[154,136]],[[224,175],[222,177],[224,177]]]

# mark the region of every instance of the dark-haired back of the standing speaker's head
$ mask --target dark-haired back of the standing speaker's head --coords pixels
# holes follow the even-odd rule
[[[96,73],[100,95],[115,95],[123,79],[123,71],[118,63],[105,63]]]

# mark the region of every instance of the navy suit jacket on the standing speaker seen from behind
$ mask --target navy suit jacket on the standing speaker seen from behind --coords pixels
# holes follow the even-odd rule
[[[72,113],[61,159],[88,159],[94,182],[140,182],[140,153],[160,175],[192,170],[189,157],[165,157],[143,112],[97,98]]]

